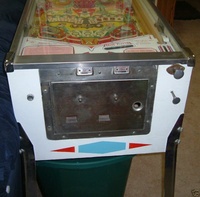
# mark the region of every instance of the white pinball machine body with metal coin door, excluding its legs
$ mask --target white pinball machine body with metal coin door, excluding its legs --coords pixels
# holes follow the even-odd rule
[[[165,152],[193,66],[147,0],[28,0],[5,61],[36,160]]]

